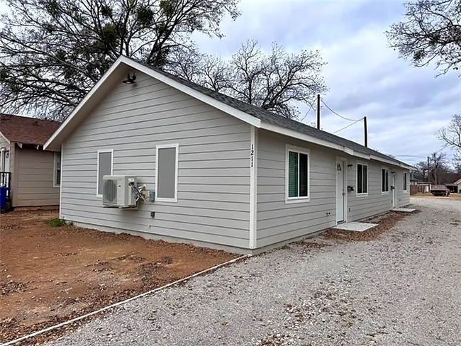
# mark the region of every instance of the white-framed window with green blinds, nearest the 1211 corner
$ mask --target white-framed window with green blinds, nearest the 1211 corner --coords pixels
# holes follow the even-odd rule
[[[309,152],[287,150],[287,200],[309,199]]]

